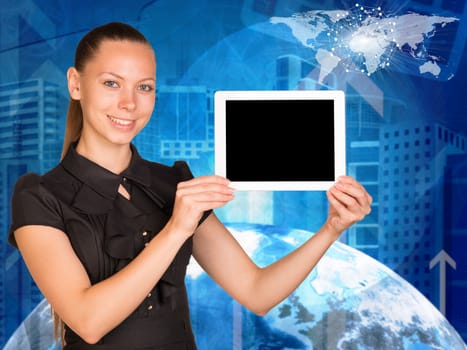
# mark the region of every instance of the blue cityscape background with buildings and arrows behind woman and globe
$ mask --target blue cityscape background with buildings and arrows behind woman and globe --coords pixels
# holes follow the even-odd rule
[[[157,54],[156,109],[135,141],[138,149],[167,164],[185,159],[195,175],[213,172],[214,91],[303,84],[344,90],[347,172],[375,202],[341,240],[409,281],[466,340],[467,6],[463,0],[360,4],[381,5],[391,16],[458,18],[425,40],[429,54],[443,57],[442,73],[420,74],[413,60],[395,57],[371,75],[333,73],[317,84],[313,50],[269,20],[346,10],[355,5],[349,1],[0,0],[0,345],[42,300],[6,244],[12,188],[19,175],[58,162],[74,48],[90,28],[112,20],[140,29]],[[218,214],[226,222],[314,231],[326,211],[324,193],[275,192],[240,193]]]

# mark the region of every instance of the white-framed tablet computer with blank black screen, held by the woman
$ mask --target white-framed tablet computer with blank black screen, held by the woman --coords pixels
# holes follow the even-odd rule
[[[345,94],[214,93],[214,167],[240,191],[325,191],[344,175]]]

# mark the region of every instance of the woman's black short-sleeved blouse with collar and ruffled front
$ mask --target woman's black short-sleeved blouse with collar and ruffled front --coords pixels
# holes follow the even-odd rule
[[[68,236],[91,284],[124,268],[172,215],[177,183],[193,177],[183,161],[169,167],[131,149],[130,165],[120,174],[79,155],[72,145],[45,175],[20,177],[12,198],[10,244],[16,247],[14,231],[21,226],[52,226]],[[131,200],[118,193],[120,184]],[[184,283],[191,252],[189,238],[147,298],[98,344],[86,344],[66,327],[65,349],[196,349]]]

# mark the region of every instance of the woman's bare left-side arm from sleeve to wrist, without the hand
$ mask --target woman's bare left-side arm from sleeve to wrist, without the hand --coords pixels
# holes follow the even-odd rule
[[[60,318],[95,343],[144,300],[173,260],[184,238],[163,230],[124,269],[91,286],[67,236],[48,226],[15,231],[23,259]]]

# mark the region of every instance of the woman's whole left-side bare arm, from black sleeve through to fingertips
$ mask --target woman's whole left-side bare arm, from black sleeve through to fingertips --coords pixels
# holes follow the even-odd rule
[[[180,183],[167,225],[130,264],[95,285],[90,284],[64,232],[28,225],[15,231],[15,239],[34,281],[55,312],[86,342],[96,343],[146,298],[193,234],[202,214],[230,201],[232,192],[228,181],[217,176]]]

